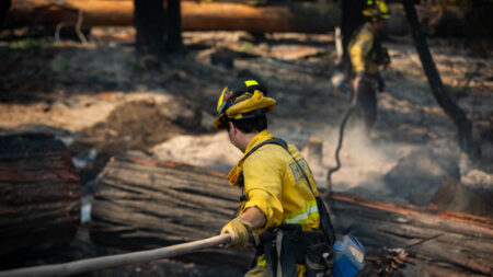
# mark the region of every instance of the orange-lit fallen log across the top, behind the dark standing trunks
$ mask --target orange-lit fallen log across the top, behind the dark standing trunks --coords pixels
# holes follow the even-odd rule
[[[83,26],[134,25],[134,0],[13,1],[5,24],[76,23]],[[243,3],[181,1],[182,30],[244,30],[251,32],[326,32],[339,22],[334,4],[289,3],[253,7]]]

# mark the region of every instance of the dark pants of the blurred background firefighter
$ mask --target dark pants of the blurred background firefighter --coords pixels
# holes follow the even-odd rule
[[[365,123],[365,131],[370,132],[377,119],[377,94],[375,81],[363,78],[356,93],[356,114]]]

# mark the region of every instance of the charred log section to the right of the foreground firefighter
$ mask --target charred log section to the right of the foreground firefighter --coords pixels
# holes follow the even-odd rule
[[[343,194],[333,195],[330,207],[336,232],[358,238],[370,255],[383,246],[399,247],[414,254],[415,264],[434,270],[466,269],[488,276],[493,273],[493,220],[490,218],[370,201]],[[434,239],[423,242],[429,238]],[[419,244],[410,247],[415,243]]]

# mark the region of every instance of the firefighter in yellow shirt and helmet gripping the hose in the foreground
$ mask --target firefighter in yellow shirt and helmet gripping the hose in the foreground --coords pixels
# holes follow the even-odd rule
[[[265,114],[276,102],[253,79],[226,86],[217,105],[216,129],[244,157],[228,174],[242,189],[238,217],[221,233],[231,246],[256,245],[245,276],[331,276],[333,232],[312,173],[293,145],[267,130]],[[319,274],[319,275],[317,275]]]

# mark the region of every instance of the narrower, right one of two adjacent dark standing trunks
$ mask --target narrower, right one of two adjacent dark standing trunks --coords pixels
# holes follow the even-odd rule
[[[170,53],[177,53],[183,48],[180,0],[168,0],[167,14],[167,49]]]

